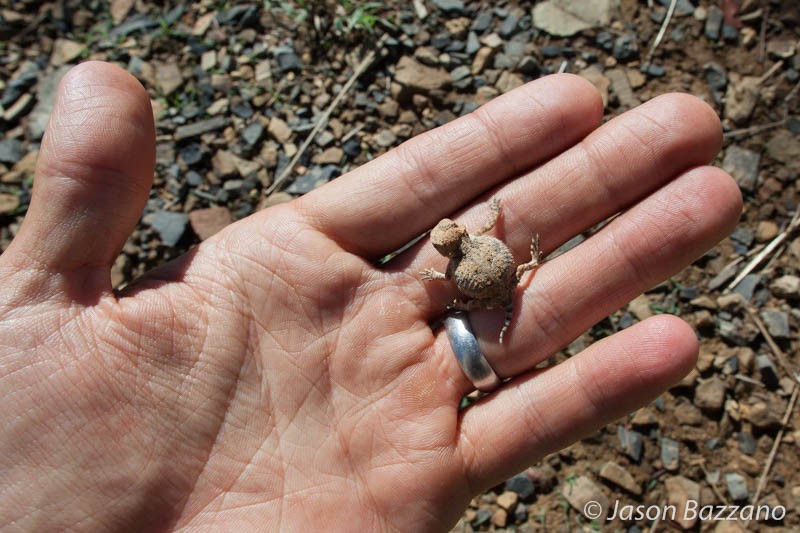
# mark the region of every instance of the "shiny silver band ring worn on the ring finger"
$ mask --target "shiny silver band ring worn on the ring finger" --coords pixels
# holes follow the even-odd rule
[[[453,311],[448,314],[444,319],[444,329],[461,370],[475,388],[481,392],[491,392],[499,387],[500,378],[483,355],[467,313]]]

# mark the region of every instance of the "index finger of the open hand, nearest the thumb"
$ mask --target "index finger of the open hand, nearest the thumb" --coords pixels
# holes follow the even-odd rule
[[[602,114],[599,93],[583,78],[541,78],[403,143],[296,206],[346,250],[377,259],[574,145]]]

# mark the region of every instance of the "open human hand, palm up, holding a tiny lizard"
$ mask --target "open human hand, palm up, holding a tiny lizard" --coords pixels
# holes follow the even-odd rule
[[[441,530],[470,498],[652,400],[694,364],[661,315],[534,366],[725,236],[741,197],[704,166],[716,115],[668,95],[598,126],[600,98],[550,76],[261,211],[116,294],[109,269],[154,164],[147,95],[86,63],[62,82],[28,215],[0,256],[0,525],[49,530]],[[473,324],[501,376],[472,384],[429,324],[455,296],[417,274],[427,240],[503,200],[518,259],[603,219]],[[346,520],[346,522],[344,522]]]

